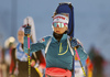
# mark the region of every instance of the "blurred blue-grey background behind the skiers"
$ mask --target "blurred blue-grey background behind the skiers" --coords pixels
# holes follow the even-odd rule
[[[2,63],[10,65],[6,51],[10,43],[13,43],[11,47],[16,45],[18,30],[26,16],[34,19],[37,40],[52,35],[52,15],[59,2],[72,2],[74,6],[75,37],[90,56],[94,48],[102,57],[103,77],[109,77],[110,0],[0,0],[0,66]],[[6,66],[3,69],[7,69]],[[0,68],[0,77],[2,73]]]

